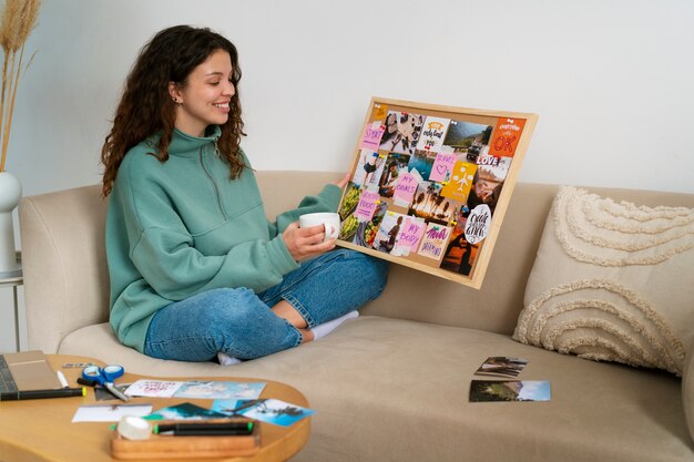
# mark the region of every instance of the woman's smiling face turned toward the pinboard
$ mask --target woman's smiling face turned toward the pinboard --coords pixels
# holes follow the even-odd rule
[[[236,92],[232,75],[229,54],[216,50],[185,82],[170,82],[169,93],[176,102],[176,129],[192,136],[203,136],[208,125],[225,124]]]

